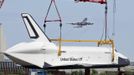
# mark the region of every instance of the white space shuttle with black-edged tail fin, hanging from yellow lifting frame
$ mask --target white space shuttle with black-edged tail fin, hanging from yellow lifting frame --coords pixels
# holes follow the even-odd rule
[[[28,68],[76,69],[76,68],[116,68],[130,64],[129,59],[115,50],[112,60],[111,47],[62,46],[58,56],[58,46],[50,41],[33,17],[21,14],[31,42],[21,42],[7,49],[4,54],[12,61]]]

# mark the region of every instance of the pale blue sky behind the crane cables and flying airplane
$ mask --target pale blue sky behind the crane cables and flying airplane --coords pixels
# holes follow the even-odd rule
[[[101,39],[104,27],[104,5],[96,3],[75,3],[73,0],[56,0],[62,18],[62,38],[64,39]],[[134,61],[134,0],[116,0],[115,26],[113,26],[113,0],[108,0],[108,34],[114,38],[116,49]],[[0,9],[7,47],[20,42],[28,42],[29,36],[21,18],[21,13],[31,14],[43,29],[44,18],[50,0],[5,0]],[[88,18],[93,26],[73,28],[67,24]],[[56,19],[57,14],[52,6],[49,19]],[[115,29],[115,30],[113,30]],[[112,36],[112,33],[115,35]],[[49,38],[59,37],[59,23],[47,23],[46,34]],[[64,45],[87,45],[89,43],[64,43]]]

